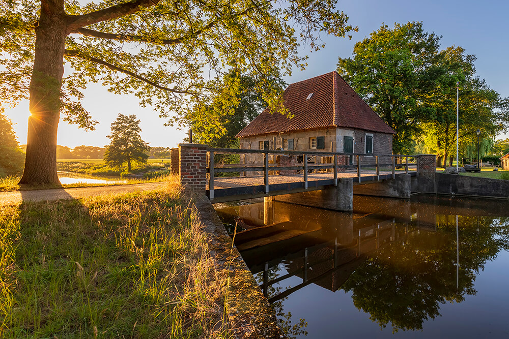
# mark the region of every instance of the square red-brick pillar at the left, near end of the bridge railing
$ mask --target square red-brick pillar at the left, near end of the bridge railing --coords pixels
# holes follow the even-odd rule
[[[207,184],[207,145],[179,144],[180,184],[205,193]]]

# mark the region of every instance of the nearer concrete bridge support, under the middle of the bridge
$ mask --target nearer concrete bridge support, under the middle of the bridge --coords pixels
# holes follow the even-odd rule
[[[353,179],[340,178],[337,180],[337,186],[326,187],[319,191],[278,195],[272,197],[272,199],[275,201],[327,208],[336,211],[352,211]]]

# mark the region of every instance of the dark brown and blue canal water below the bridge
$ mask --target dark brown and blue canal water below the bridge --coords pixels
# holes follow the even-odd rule
[[[291,337],[509,337],[504,200],[215,207]]]

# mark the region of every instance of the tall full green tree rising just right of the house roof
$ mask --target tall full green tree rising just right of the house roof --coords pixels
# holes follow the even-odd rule
[[[355,44],[353,57],[339,58],[337,71],[397,133],[393,151],[407,152],[419,122],[430,118],[427,95],[438,77],[440,37],[421,22],[382,25]]]

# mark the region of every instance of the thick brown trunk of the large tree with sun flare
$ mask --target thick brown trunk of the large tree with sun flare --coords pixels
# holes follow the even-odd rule
[[[41,6],[36,28],[35,60],[30,82],[30,112],[26,158],[20,184],[57,184],[56,131],[60,119],[60,90],[64,48],[68,35],[63,0]]]

